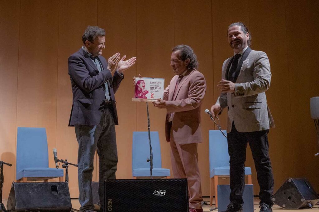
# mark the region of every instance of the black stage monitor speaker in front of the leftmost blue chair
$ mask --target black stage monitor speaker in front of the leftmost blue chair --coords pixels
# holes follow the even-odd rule
[[[13,182],[7,202],[9,212],[70,212],[66,182]]]

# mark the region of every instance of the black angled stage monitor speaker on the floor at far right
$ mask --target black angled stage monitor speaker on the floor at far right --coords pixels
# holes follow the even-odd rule
[[[318,200],[317,193],[306,178],[288,178],[272,197],[272,201],[284,209],[311,207]]]

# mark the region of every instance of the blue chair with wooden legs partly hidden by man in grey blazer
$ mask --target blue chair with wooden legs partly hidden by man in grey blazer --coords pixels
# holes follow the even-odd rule
[[[226,130],[223,130],[227,134]],[[210,196],[212,205],[213,191],[215,191],[215,205],[217,204],[217,185],[219,177],[229,177],[229,154],[227,139],[219,130],[209,131],[209,173],[211,177]],[[245,167],[245,175],[248,175],[248,184],[251,184],[251,168]],[[214,181],[214,182],[213,182]]]

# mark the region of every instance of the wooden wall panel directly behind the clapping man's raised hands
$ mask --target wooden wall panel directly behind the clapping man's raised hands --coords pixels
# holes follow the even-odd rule
[[[120,10],[119,10],[120,8]],[[104,57],[116,52],[126,59],[136,56],[136,1],[98,1],[98,25],[106,30]],[[116,177],[132,178],[132,135],[136,131],[136,102],[132,102],[134,92],[133,77],[137,74],[137,64],[124,71],[124,79],[115,93],[119,125],[115,126],[118,151]],[[99,161],[97,160],[97,166]],[[96,169],[97,180],[99,172]]]

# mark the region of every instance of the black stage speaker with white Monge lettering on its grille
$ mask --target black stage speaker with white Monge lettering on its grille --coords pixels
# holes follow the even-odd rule
[[[187,179],[105,181],[105,211],[189,212]]]

